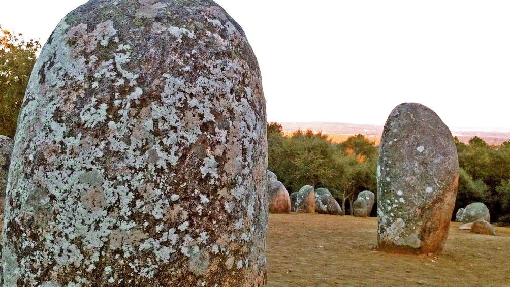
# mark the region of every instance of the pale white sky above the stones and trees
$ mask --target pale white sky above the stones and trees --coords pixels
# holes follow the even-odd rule
[[[0,0],[45,42],[84,0]],[[420,102],[450,127],[510,131],[510,1],[217,0],[262,70],[269,121],[382,125]]]

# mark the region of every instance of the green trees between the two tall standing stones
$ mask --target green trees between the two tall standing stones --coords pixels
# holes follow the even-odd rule
[[[348,198],[376,188],[377,148],[362,135],[334,144],[311,130],[285,137],[281,125],[269,123],[268,158],[268,169],[290,193],[304,185],[324,187],[340,199],[344,211]]]

